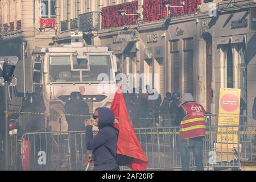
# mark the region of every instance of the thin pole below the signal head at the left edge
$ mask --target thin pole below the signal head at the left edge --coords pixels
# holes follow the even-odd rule
[[[9,83],[5,81],[5,170],[9,170],[9,104],[8,104]]]

